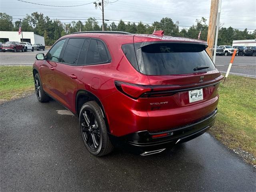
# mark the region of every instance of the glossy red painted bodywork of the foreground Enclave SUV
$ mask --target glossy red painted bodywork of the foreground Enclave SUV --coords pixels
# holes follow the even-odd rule
[[[216,110],[219,84],[214,83],[219,83],[223,78],[216,68],[190,74],[145,75],[130,64],[122,50],[122,45],[138,42],[175,42],[207,46],[206,42],[163,36],[162,32],[152,35],[78,33],[64,36],[60,40],[78,37],[102,40],[108,48],[111,62],[73,66],[37,60],[33,68],[40,74],[44,91],[74,114],[79,114],[76,106],[78,91],[86,90],[94,94],[102,104],[109,132],[113,136],[125,136],[145,130],[171,130],[203,119]],[[204,76],[203,82],[200,82],[201,76]],[[116,88],[115,82],[121,82],[120,87],[124,92]],[[203,100],[190,103],[186,89],[196,89],[199,86],[206,86],[203,88]],[[185,91],[159,97],[140,97],[150,91],[177,89]]]

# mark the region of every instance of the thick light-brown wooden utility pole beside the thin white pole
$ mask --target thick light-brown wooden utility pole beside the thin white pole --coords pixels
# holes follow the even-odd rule
[[[212,48],[213,48],[213,42],[214,42],[215,30],[216,30],[218,2],[219,0],[211,0],[211,10],[210,10],[210,18],[209,18],[209,26],[208,26],[208,34],[207,34],[208,48],[206,48],[206,52],[211,58],[212,58]]]

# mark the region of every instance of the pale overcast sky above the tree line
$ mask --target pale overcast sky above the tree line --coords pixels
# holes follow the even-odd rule
[[[95,9],[94,0],[25,0],[34,3],[74,6],[77,7],[50,7],[36,4],[29,4],[17,0],[0,0],[0,12],[6,12],[13,18],[23,18],[32,12],[42,12],[51,19],[71,22],[82,20],[88,17],[98,19],[102,24],[101,10]],[[191,26],[196,19],[202,16],[207,20],[210,15],[210,0],[105,0],[109,3],[104,7],[105,19],[124,20],[130,22],[152,23],[160,21],[163,17],[170,17],[174,22],[179,21],[180,26]],[[115,2],[116,1],[116,2]],[[99,2],[99,1],[96,1]],[[100,0],[101,2],[101,0]],[[14,20],[16,21],[16,20]],[[118,23],[118,22],[116,22]],[[220,23],[224,27],[256,29],[256,0],[222,0]],[[182,29],[183,27],[180,27]],[[250,30],[251,31],[251,30]]]

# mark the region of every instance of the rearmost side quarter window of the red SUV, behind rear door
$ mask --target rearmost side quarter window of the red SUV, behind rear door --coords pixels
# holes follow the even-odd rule
[[[92,39],[88,49],[86,65],[108,62],[108,52],[100,40]]]

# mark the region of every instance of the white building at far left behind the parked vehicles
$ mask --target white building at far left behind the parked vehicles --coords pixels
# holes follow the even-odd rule
[[[22,40],[23,35],[23,40]],[[44,44],[44,37],[34,34],[34,32],[22,32],[22,35],[18,34],[18,31],[0,31],[0,42],[18,41],[18,42],[30,42],[31,44],[40,43]]]

